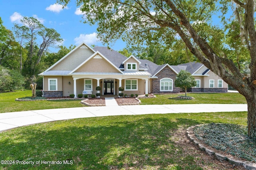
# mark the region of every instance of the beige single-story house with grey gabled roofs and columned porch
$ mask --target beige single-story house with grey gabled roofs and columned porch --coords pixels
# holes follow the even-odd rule
[[[90,48],[85,43],[77,46],[47,70],[43,76],[44,97],[62,97],[70,94],[96,94],[96,86],[102,95],[122,93],[178,93],[174,81],[180,70],[188,70],[196,79],[192,92],[227,92],[228,84],[201,63],[185,63],[177,66],[157,65],[146,59],[136,59],[108,49]]]

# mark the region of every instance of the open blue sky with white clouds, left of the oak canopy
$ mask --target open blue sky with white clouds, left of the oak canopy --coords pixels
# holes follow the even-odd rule
[[[102,45],[96,38],[97,25],[90,26],[83,23],[82,12],[76,6],[76,0],[71,0],[67,8],[56,4],[56,0],[0,0],[0,17],[3,25],[12,30],[14,23],[20,23],[24,16],[38,19],[45,27],[53,28],[60,33],[66,47],[79,45]],[[119,51],[126,47],[126,43],[118,40],[110,46]],[[54,49],[52,49],[53,52]]]

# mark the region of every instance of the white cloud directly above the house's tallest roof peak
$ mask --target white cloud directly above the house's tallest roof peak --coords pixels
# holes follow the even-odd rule
[[[75,45],[80,45],[82,42],[86,43],[87,45],[96,45],[99,42],[97,38],[97,33],[91,34],[80,34],[79,37],[74,39]]]

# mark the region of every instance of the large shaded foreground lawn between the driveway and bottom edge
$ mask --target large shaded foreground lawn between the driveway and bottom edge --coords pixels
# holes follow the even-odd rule
[[[19,127],[0,133],[0,169],[202,170],[214,164],[186,139],[185,129],[202,123],[246,125],[246,112],[180,113],[92,117]],[[41,164],[61,161],[62,164]],[[72,164],[63,164],[63,161]],[[209,162],[210,160],[210,162]]]

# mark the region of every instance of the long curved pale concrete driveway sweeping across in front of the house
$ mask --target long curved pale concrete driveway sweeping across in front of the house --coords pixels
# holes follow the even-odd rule
[[[247,104],[96,106],[0,113],[0,131],[35,123],[112,115],[247,111]]]

